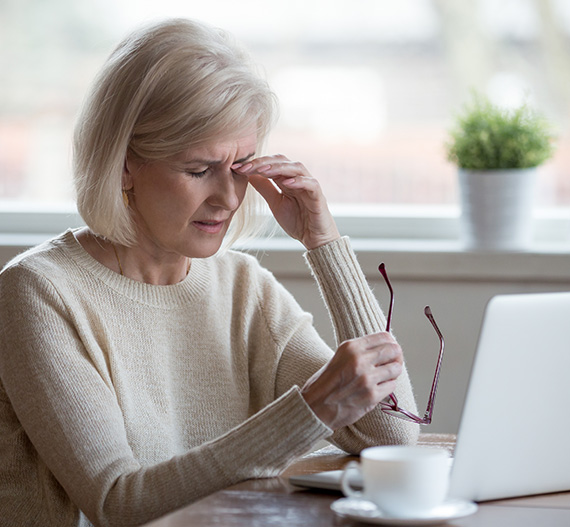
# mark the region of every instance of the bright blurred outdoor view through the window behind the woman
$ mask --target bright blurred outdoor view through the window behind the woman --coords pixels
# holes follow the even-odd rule
[[[0,0],[0,207],[73,199],[87,87],[127,32],[171,16],[246,44],[281,101],[268,150],[305,163],[332,203],[455,204],[443,145],[477,89],[553,122],[538,203],[570,206],[568,0]]]

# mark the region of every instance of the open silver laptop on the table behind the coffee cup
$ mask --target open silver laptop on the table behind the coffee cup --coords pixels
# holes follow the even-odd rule
[[[569,408],[570,293],[492,298],[457,434],[450,496],[486,501],[570,490]],[[340,490],[341,474],[290,482]]]

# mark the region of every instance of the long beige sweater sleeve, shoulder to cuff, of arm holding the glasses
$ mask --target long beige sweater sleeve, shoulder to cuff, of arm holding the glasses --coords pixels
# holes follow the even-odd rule
[[[22,488],[10,484],[18,473],[5,456],[18,456],[28,474],[45,471],[29,477],[37,485],[26,490],[29,499],[48,501],[27,513],[34,515],[30,524],[64,525],[49,511],[69,510],[71,504],[61,505],[61,489],[46,496],[45,480],[53,479],[52,490],[61,485],[95,525],[128,526],[240,480],[275,475],[331,433],[293,387],[224,436],[141,466],[129,447],[114,388],[86,353],[73,317],[53,284],[34,271],[16,266],[0,277],[0,379],[15,416],[0,415],[0,445],[16,438],[0,452],[0,482],[7,480],[0,483],[0,509],[8,523],[12,511],[15,523],[27,524],[26,513],[10,506],[17,498],[10,492]],[[6,404],[0,409],[8,411]],[[59,505],[49,503],[53,496]],[[65,525],[76,523],[75,516]]]

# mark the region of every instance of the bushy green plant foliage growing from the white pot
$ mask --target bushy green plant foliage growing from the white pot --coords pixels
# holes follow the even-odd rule
[[[506,110],[477,93],[450,136],[447,158],[470,170],[535,167],[554,152],[550,124],[528,105]]]

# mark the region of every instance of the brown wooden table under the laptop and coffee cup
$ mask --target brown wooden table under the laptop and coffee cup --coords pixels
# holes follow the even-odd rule
[[[421,444],[453,450],[451,435],[425,434]],[[294,463],[278,478],[248,480],[216,492],[146,527],[356,527],[364,524],[337,517],[330,504],[341,495],[304,490],[288,483],[295,474],[342,468],[354,457],[327,447]],[[569,527],[570,492],[479,504],[467,518],[447,524],[456,527]]]

